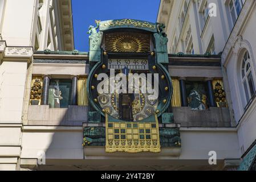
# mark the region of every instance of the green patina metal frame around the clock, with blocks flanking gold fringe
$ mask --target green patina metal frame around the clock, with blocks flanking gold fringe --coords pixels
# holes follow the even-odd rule
[[[89,123],[100,123],[101,118],[105,117],[105,113],[101,110],[101,107],[97,104],[93,98],[97,82],[95,81],[95,75],[102,72],[103,63],[105,64],[105,56],[107,53],[103,54],[103,47],[101,47],[101,42],[103,40],[104,31],[113,30],[115,28],[124,28],[127,31],[128,28],[140,29],[147,31],[145,33],[150,33],[152,35],[152,41],[155,43],[155,50],[149,55],[149,72],[160,73],[165,77],[165,80],[161,80],[160,92],[164,93],[164,96],[160,96],[159,105],[157,106],[157,117],[162,117],[162,123],[173,123],[173,114],[165,113],[165,111],[170,106],[170,101],[172,98],[173,87],[172,81],[168,72],[169,55],[167,51],[168,38],[164,32],[164,24],[160,23],[150,23],[141,20],[131,20],[131,19],[121,19],[121,20],[108,20],[105,22],[96,21],[97,26],[90,26],[88,34],[90,38],[90,74],[88,76],[87,82],[87,93],[88,100],[90,102],[88,111],[88,122]],[[99,32],[97,30],[99,29]],[[105,64],[107,65],[107,64]],[[93,83],[93,84],[92,84]],[[167,89],[166,89],[167,88]],[[165,100],[165,102],[162,102]],[[120,119],[115,119],[109,117],[115,122],[122,122]],[[155,119],[152,117],[145,118],[141,122],[152,122]],[[84,128],[84,138],[83,146],[105,146],[105,127],[85,127]],[[178,127],[166,127],[160,128],[160,143],[162,147],[181,147],[180,139],[180,129]]]

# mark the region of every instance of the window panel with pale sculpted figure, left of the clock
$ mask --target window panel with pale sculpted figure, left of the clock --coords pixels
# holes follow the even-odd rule
[[[50,105],[50,108],[68,108],[68,105],[71,104],[71,92],[71,80],[51,80],[48,93],[48,105]]]

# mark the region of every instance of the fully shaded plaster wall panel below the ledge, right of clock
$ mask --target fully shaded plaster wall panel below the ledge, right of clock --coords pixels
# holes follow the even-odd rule
[[[181,129],[180,159],[209,159],[209,152],[216,151],[217,159],[239,159],[237,132],[235,129]]]

